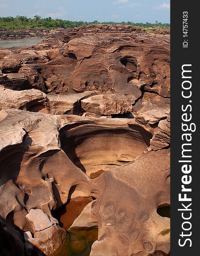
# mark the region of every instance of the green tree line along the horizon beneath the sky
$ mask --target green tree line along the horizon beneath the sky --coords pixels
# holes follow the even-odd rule
[[[161,23],[157,20],[155,23],[134,23],[132,21],[128,22],[99,22],[94,20],[92,22],[87,21],[71,21],[71,20],[61,20],[52,19],[51,17],[42,18],[39,15],[35,15],[33,19],[27,18],[26,16],[16,16],[16,17],[0,17],[0,29],[51,29],[51,28],[73,28],[77,26],[84,25],[96,25],[96,24],[110,24],[110,25],[131,25],[131,26],[141,26],[141,27],[170,27],[170,23]]]

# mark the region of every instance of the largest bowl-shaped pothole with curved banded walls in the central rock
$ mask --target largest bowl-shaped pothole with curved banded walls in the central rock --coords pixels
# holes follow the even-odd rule
[[[87,175],[130,163],[148,148],[152,135],[137,125],[106,128],[81,125],[60,131],[61,148]]]

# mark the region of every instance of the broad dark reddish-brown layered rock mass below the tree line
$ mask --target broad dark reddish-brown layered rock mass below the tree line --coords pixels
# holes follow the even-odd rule
[[[11,73],[22,72],[24,65],[36,68],[38,74],[27,78],[43,92],[93,90],[137,98],[141,87],[169,97],[169,36],[141,35],[141,29],[131,26],[84,26],[75,31],[66,29],[26,50],[4,53],[0,69]],[[65,37],[69,42],[61,44]]]

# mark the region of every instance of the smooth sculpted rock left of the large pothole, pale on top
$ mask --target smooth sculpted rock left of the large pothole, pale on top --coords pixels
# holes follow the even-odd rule
[[[9,109],[0,111],[0,120],[2,218],[7,219],[11,212],[11,221],[26,232],[32,230],[26,219],[27,211],[41,209],[52,218],[51,210],[66,203],[69,195],[91,195],[89,177],[60,148],[58,129],[63,119]],[[41,237],[47,239],[49,232]]]

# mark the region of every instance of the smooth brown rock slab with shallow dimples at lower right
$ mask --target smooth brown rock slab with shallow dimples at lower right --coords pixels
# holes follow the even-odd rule
[[[94,197],[98,198],[91,212],[98,220],[99,231],[90,255],[130,256],[140,252],[147,256],[168,243],[170,219],[160,216],[157,207],[169,204],[169,186],[169,150],[148,152],[91,180]],[[97,187],[102,188],[100,196]],[[163,253],[169,250],[168,243]]]

